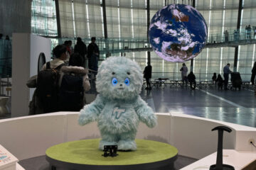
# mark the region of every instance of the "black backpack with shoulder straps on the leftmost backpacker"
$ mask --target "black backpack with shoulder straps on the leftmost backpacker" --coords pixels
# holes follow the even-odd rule
[[[37,96],[43,106],[43,113],[58,111],[58,80],[59,70],[65,64],[60,64],[55,69],[50,68],[50,62],[46,62],[46,69],[38,73]]]

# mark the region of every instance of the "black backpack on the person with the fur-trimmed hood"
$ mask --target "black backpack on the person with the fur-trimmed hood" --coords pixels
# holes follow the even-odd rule
[[[82,76],[78,74],[64,74],[59,90],[59,111],[80,111],[83,103],[84,88]]]

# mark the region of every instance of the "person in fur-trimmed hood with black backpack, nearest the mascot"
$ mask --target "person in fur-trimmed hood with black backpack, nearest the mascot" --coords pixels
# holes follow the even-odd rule
[[[59,111],[80,111],[85,105],[85,91],[90,90],[88,70],[83,67],[79,53],[70,56],[68,66],[60,69],[58,109]]]

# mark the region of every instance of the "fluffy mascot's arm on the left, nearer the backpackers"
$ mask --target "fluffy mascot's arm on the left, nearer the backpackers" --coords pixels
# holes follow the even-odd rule
[[[103,102],[103,98],[100,95],[97,95],[95,101],[89,105],[85,105],[84,108],[81,109],[78,118],[79,125],[86,125],[87,123],[96,121],[104,106],[105,103]]]

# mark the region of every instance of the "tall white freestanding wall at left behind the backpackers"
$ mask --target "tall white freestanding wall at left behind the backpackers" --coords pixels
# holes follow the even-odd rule
[[[44,52],[50,60],[50,39],[29,33],[13,33],[11,116],[28,115],[33,90],[26,82],[37,74],[38,56]]]

